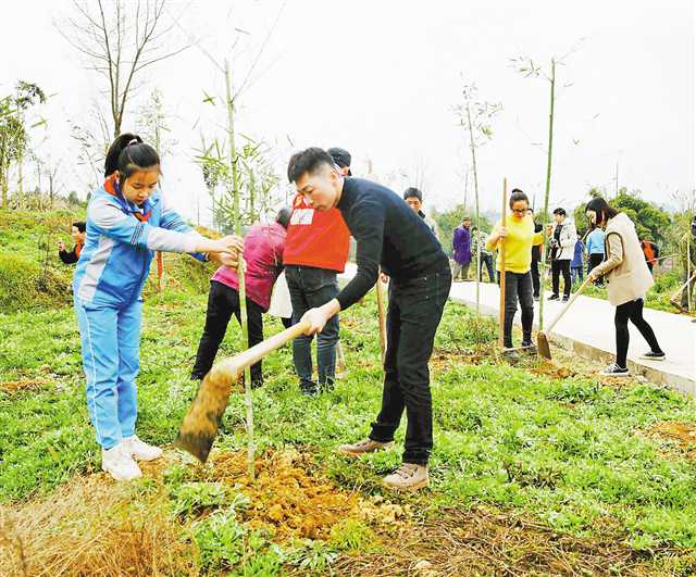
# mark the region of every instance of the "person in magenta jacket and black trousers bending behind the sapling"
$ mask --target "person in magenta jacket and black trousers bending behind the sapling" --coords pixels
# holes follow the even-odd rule
[[[263,313],[271,304],[273,285],[283,269],[283,250],[291,211],[283,208],[275,223],[256,224],[244,239],[245,289],[247,293],[247,321],[249,347],[263,340]],[[239,279],[236,268],[221,266],[210,279],[206,327],[198,344],[198,353],[191,379],[201,380],[212,368],[217,349],[225,338],[232,314],[240,321]],[[251,386],[263,385],[261,361],[251,365]]]

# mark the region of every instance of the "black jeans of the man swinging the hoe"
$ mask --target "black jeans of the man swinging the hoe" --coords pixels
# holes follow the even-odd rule
[[[405,463],[427,464],[433,449],[433,401],[427,362],[452,275],[438,274],[389,283],[387,351],[384,359],[382,410],[370,438],[394,440],[406,409]]]

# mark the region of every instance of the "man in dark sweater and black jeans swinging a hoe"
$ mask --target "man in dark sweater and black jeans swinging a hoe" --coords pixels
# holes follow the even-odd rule
[[[382,410],[368,439],[344,444],[339,451],[361,455],[390,447],[406,410],[403,464],[384,484],[394,489],[425,487],[433,448],[427,362],[451,286],[447,255],[423,219],[395,192],[341,176],[320,148],[295,154],[288,178],[314,210],[337,208],[358,242],[356,276],[335,299],[304,314],[307,334],[321,331],[333,315],[364,297],[374,287],[380,266],[391,279]]]

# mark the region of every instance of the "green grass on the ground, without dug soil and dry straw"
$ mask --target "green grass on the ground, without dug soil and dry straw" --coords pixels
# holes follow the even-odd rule
[[[171,443],[195,393],[187,376],[204,301],[204,296],[165,293],[146,302],[138,432],[149,441]],[[383,493],[380,477],[399,462],[398,448],[363,461],[333,453],[337,443],[364,436],[378,406],[375,317],[372,299],[344,316],[341,338],[348,368],[334,392],[318,399],[301,397],[288,349],[265,364],[266,386],[254,391],[260,466],[275,469],[277,455],[293,449],[301,455],[297,459],[302,474],[320,476],[338,493],[357,494],[365,502],[380,496],[390,505],[408,506],[410,517],[395,519],[395,525],[390,519],[374,523],[358,515],[348,527],[336,520],[333,537],[328,527],[325,535],[300,532],[278,541],[253,524],[256,517],[235,514],[235,506],[239,509],[239,504],[233,506],[235,500],[245,500],[239,489],[246,440],[240,396],[233,396],[216,442],[223,460],[233,455],[239,462],[233,467],[234,475],[215,478],[214,465],[213,473],[206,473],[171,453],[166,472],[134,484],[132,492],[112,506],[117,510],[126,502],[129,507],[139,504],[147,515],[160,512],[164,527],[181,529],[170,538],[184,548],[190,572],[243,570],[244,565],[248,569],[249,564],[268,562],[275,567],[271,573],[282,566],[322,573],[334,564],[345,573],[368,574],[360,563],[388,551],[389,540],[381,536],[395,526],[408,532],[422,530],[433,519],[463,523],[476,515],[485,515],[489,523],[490,515],[494,519],[502,515],[504,522],[497,525],[502,527],[519,517],[537,534],[567,535],[576,543],[605,543],[606,554],[599,559],[622,551],[624,570],[694,568],[696,465],[688,447],[680,449],[670,437],[652,434],[662,422],[694,423],[694,402],[646,382],[602,384],[585,368],[571,372],[533,362],[519,367],[498,364],[486,344],[495,336],[495,325],[456,305],[446,311],[433,363],[436,450],[432,487],[396,499]],[[266,331],[278,329],[271,322]],[[23,512],[33,511],[35,517],[37,504],[47,499],[53,502],[57,494],[70,502],[65,487],[82,487],[91,482],[85,479],[95,477],[112,491],[123,491],[95,474],[98,452],[87,421],[71,309],[4,314],[0,330],[5,336],[0,344],[0,500],[5,503],[4,515],[15,511],[14,523],[22,526]],[[224,352],[238,349],[235,327]],[[400,430],[398,446],[402,435]],[[252,497],[261,509],[277,504],[264,502],[259,491]],[[89,510],[76,507],[75,514],[83,522],[90,518]],[[75,522],[70,511],[66,515]],[[261,519],[259,526],[265,522],[269,519]],[[276,534],[283,525],[276,524]],[[253,554],[228,552],[225,556],[226,548],[237,547],[231,535],[237,535],[237,540],[244,536],[239,542],[247,547],[256,543]],[[427,536],[422,537],[420,545],[426,551]],[[359,553],[347,554],[356,543]],[[524,547],[538,547],[538,535]],[[30,566],[30,550],[27,559]],[[551,570],[552,566],[542,564],[539,568]]]

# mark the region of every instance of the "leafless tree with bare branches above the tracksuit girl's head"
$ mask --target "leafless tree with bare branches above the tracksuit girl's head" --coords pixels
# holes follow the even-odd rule
[[[166,0],[73,0],[75,14],[58,26],[87,67],[108,79],[114,137],[121,134],[138,73],[190,46],[165,48],[164,39],[176,26],[164,24],[165,4]]]

